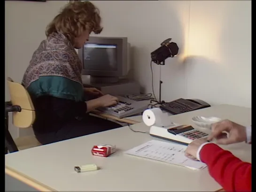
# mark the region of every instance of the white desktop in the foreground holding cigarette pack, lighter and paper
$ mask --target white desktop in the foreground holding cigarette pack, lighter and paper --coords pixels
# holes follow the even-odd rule
[[[194,125],[191,118],[196,115],[251,124],[251,108],[231,105],[172,115],[170,119],[176,123]],[[134,130],[149,130],[144,123],[131,127]],[[191,170],[123,154],[151,139],[155,138],[135,133],[126,126],[7,154],[5,164],[57,191],[217,191],[222,188],[210,177],[207,168]],[[116,145],[118,151],[107,158],[93,156],[91,148],[101,143]],[[225,146],[225,149],[243,161],[251,162],[250,145],[240,143]],[[96,163],[101,169],[85,173],[74,171],[74,166],[87,163]]]

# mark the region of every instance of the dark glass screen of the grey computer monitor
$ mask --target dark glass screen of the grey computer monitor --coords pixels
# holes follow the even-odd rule
[[[117,70],[116,45],[86,43],[84,45],[84,69]]]

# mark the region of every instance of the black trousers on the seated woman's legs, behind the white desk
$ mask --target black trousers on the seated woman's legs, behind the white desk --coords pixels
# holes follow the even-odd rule
[[[34,133],[38,141],[41,144],[46,145],[70,138],[77,138],[101,131],[108,131],[119,127],[122,127],[122,125],[90,115],[85,119],[74,120],[67,123],[58,131],[48,133],[39,133],[34,131]]]

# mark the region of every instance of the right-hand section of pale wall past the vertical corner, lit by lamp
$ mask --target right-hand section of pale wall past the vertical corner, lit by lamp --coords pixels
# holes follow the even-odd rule
[[[251,107],[251,1],[191,1],[187,98]]]

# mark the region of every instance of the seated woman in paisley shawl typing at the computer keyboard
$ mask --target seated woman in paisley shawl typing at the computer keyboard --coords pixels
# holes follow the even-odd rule
[[[81,80],[82,63],[75,48],[81,48],[91,32],[101,31],[99,11],[89,1],[70,2],[48,25],[47,39],[34,52],[22,81],[36,110],[33,130],[40,143],[121,127],[88,115],[95,108],[118,101],[95,88],[83,88]],[[98,98],[85,101],[85,94],[90,92],[98,93]]]

